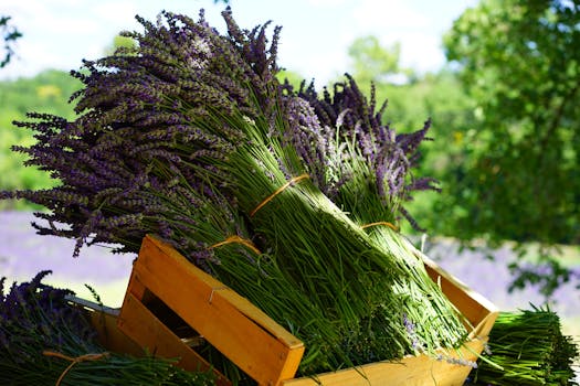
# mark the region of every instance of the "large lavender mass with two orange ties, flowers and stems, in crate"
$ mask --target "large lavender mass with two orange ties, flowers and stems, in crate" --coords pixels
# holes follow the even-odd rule
[[[139,19],[145,33],[126,33],[138,47],[74,73],[85,85],[75,121],[18,124],[39,142],[17,150],[62,185],[2,195],[45,205],[49,226],[36,228],[75,238],[75,255],[94,243],[136,251],[158,233],[304,340],[302,374],[461,343],[463,331],[425,328],[449,340],[416,346],[409,321],[423,304],[389,290],[409,270],[309,181],[285,140],[302,112],[275,78],[278,30],[268,47],[267,24],[224,18],[228,36],[203,17]],[[246,242],[222,243],[231,236]]]

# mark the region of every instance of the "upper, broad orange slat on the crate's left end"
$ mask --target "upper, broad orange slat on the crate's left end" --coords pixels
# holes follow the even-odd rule
[[[296,373],[299,340],[165,243],[144,239],[134,275],[259,384],[277,385]]]

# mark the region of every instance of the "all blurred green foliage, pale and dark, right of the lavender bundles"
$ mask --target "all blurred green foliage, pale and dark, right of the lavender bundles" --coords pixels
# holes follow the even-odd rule
[[[398,83],[397,46],[366,37],[349,51],[355,78],[389,99],[398,131],[433,119],[420,174],[442,194],[416,194],[409,212],[430,234],[518,242],[540,266],[513,264],[513,288],[536,283],[546,296],[571,278],[550,246],[580,242],[579,34],[576,2],[485,0],[445,36],[450,69]],[[529,242],[542,253],[531,256]]]

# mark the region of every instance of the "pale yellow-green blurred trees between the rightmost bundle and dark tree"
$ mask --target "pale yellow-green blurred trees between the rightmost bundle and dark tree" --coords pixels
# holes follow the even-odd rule
[[[410,132],[422,127],[424,120],[432,118],[430,137],[435,140],[422,147],[419,160],[420,175],[431,175],[441,182],[444,193],[418,192],[408,210],[419,224],[432,232],[441,232],[442,221],[435,216],[433,207],[444,201],[447,190],[447,168],[461,157],[467,141],[465,132],[473,122],[473,101],[466,97],[454,73],[443,69],[437,74],[420,76],[400,65],[400,45],[382,46],[377,37],[366,36],[356,40],[349,47],[354,63],[354,77],[365,90],[370,93],[371,83],[376,86],[377,99],[388,100],[384,119],[398,132]],[[413,229],[403,224],[404,232]],[[447,229],[449,230],[449,229]]]

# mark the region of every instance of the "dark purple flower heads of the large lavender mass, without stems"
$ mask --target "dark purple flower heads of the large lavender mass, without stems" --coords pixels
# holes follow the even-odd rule
[[[78,114],[74,121],[32,112],[30,120],[14,122],[38,139],[14,151],[29,156],[28,165],[50,172],[61,186],[1,192],[0,197],[25,199],[50,210],[38,214],[49,225],[33,226],[40,234],[76,239],[73,256],[85,244],[124,242],[117,251],[136,253],[146,232],[172,236],[182,225],[169,225],[161,208],[164,196],[176,196],[181,178],[199,190],[181,192],[189,197],[183,204],[199,207],[201,197],[220,191],[235,205],[230,179],[217,165],[244,143],[244,133],[205,124],[214,111],[226,117],[239,109],[249,119],[275,119],[268,111],[275,107],[271,94],[278,93],[280,28],[268,49],[268,23],[243,31],[230,9],[223,17],[228,36],[207,23],[203,11],[198,21],[170,12],[157,23],[137,17],[145,32],[124,33],[138,42],[135,49],[85,61],[84,71],[72,72],[84,84],[71,97]],[[232,216],[229,211],[223,210],[224,217]]]

